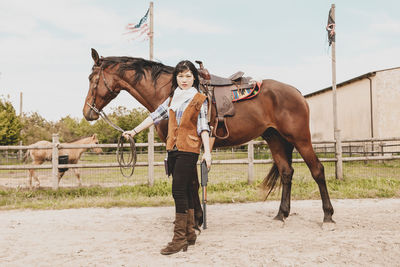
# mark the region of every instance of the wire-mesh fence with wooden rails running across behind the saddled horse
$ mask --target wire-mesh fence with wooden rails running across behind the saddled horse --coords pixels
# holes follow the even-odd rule
[[[53,146],[52,149],[73,147],[71,145]],[[0,146],[0,186],[10,188],[29,187],[29,169],[35,168],[40,187],[58,188],[76,187],[78,179],[83,186],[114,187],[121,185],[149,184],[147,144],[137,144],[137,165],[132,177],[124,177],[116,160],[116,144],[79,145],[87,149],[101,147],[103,153],[86,152],[78,164],[59,164],[47,162],[33,165],[23,162],[28,146]],[[335,142],[316,142],[313,144],[319,159],[325,167],[327,179],[335,177]],[[49,149],[49,147],[46,147]],[[36,148],[44,149],[44,148]],[[365,139],[343,141],[343,172],[345,178],[388,177],[400,179],[400,138]],[[153,180],[170,179],[166,176],[163,160],[166,156],[164,144],[155,144]],[[201,155],[200,155],[201,157]],[[199,157],[199,158],[200,158]],[[264,141],[252,141],[248,144],[214,149],[213,165],[209,173],[209,183],[247,182],[263,179],[273,164],[272,155]],[[311,174],[299,153],[293,152],[294,179],[312,179]],[[54,170],[69,168],[58,183]],[[55,186],[55,183],[57,185]],[[37,186],[37,183],[34,186]]]

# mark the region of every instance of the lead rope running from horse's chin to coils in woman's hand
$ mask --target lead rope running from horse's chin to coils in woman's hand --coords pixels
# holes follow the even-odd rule
[[[128,158],[125,159],[124,156],[124,144],[125,144],[125,137],[122,135],[124,130],[119,127],[118,125],[115,125],[104,113],[104,111],[99,111],[96,107],[90,105],[89,103],[86,103],[94,112],[96,112],[108,125],[110,125],[112,128],[115,130],[121,132],[120,137],[118,138],[118,144],[117,144],[117,162],[119,164],[119,170],[121,171],[121,174],[124,177],[131,177],[133,172],[135,171],[135,166],[136,166],[136,160],[137,160],[137,154],[136,154],[136,145],[135,145],[135,140],[129,136],[128,137],[128,142],[129,142],[129,147],[130,147],[130,153],[128,154]],[[129,174],[126,174],[126,170],[130,170]]]

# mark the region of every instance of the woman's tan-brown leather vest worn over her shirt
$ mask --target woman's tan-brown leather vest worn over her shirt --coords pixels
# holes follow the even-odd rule
[[[201,137],[197,135],[197,119],[201,106],[207,97],[197,93],[182,114],[180,124],[176,121],[176,113],[169,110],[167,151],[174,147],[179,151],[200,154]]]

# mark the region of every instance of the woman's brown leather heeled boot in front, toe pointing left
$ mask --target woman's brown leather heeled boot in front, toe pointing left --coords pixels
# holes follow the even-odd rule
[[[186,239],[186,227],[187,227],[187,214],[176,213],[175,214],[175,227],[174,237],[168,245],[163,248],[160,253],[163,255],[170,255],[177,253],[181,250],[186,251],[188,247]]]

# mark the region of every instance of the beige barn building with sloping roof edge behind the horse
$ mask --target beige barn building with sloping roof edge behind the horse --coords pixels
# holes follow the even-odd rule
[[[342,140],[400,137],[400,67],[337,84]],[[313,141],[333,140],[332,87],[305,95]]]

